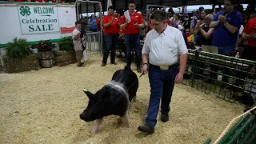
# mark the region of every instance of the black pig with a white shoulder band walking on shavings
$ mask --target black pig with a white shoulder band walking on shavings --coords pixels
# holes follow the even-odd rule
[[[86,110],[80,114],[80,118],[86,122],[95,120],[94,129],[96,134],[103,117],[108,115],[118,115],[120,120],[129,127],[128,109],[130,102],[136,100],[138,90],[138,78],[132,70],[117,70],[112,80],[98,90],[96,94],[85,90],[89,98]]]

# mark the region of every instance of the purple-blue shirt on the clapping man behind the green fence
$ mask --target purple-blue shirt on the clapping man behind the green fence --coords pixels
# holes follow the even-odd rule
[[[215,15],[213,21],[218,21],[218,15],[225,15],[223,11],[218,12]],[[230,25],[237,27],[238,30],[234,34],[232,34],[229,30],[226,29],[224,23],[218,24],[214,28],[214,35],[213,35],[213,44],[217,46],[235,46],[236,42],[238,41],[238,31],[240,26],[242,25],[242,16],[241,14],[233,10],[230,14],[226,15],[226,22],[229,22]]]

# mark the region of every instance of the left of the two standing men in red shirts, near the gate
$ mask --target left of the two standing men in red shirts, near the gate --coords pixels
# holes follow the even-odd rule
[[[104,27],[104,41],[105,41],[105,52],[103,54],[102,66],[106,66],[107,58],[109,57],[110,50],[110,63],[116,65],[115,62],[115,51],[118,45],[118,33],[119,23],[118,16],[114,15],[114,7],[108,8],[108,15],[103,18]]]

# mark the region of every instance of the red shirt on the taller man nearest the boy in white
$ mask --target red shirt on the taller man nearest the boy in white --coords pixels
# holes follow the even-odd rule
[[[144,20],[142,18],[142,14],[138,14],[134,12],[134,14],[130,14],[131,22],[129,22],[124,30],[124,34],[140,34],[140,29],[137,26],[134,26],[136,23],[142,24]],[[120,18],[120,24],[124,24],[126,22],[126,17],[123,15]]]

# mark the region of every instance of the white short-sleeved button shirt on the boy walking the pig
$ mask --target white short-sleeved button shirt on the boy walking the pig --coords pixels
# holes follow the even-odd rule
[[[174,65],[179,55],[187,52],[182,32],[172,26],[167,26],[162,34],[150,30],[142,48],[142,54],[147,54],[150,64],[155,66]]]

